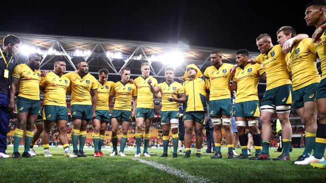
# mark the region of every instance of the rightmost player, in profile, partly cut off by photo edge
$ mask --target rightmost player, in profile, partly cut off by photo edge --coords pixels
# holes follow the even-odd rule
[[[305,21],[308,26],[316,26],[316,30],[312,34],[315,42],[315,48],[321,63],[321,80],[318,85],[316,94],[316,103],[318,111],[318,124],[313,149],[313,157],[316,159],[323,158],[326,147],[326,3],[324,0],[314,0],[306,5]],[[311,162],[313,167],[326,168],[326,161]]]

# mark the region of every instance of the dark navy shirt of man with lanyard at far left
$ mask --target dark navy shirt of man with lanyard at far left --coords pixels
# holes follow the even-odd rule
[[[10,78],[12,76],[14,67],[18,63],[18,57],[16,56],[16,54],[7,55],[4,48],[2,46],[0,46],[0,47],[1,47],[1,51],[4,53],[4,56],[6,57],[6,60],[8,63],[8,70],[9,70],[8,78],[4,77],[4,73],[5,73],[5,69],[6,69],[7,65],[5,63],[3,56],[0,53],[0,93],[9,94]],[[12,59],[10,60],[11,57],[12,57]]]

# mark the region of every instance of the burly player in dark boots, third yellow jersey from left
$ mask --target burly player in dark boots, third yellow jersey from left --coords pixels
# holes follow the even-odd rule
[[[85,60],[79,60],[77,63],[78,72],[69,72],[65,75],[70,79],[71,93],[71,116],[73,129],[71,139],[73,144],[73,153],[78,157],[84,157],[84,144],[86,141],[86,128],[88,121],[96,117],[97,100],[97,80],[88,73],[88,63]],[[78,151],[79,140],[79,151]]]

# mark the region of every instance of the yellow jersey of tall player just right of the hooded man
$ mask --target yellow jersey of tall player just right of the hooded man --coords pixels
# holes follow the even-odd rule
[[[206,68],[204,75],[210,79],[210,100],[231,98],[229,73],[233,64],[223,63],[219,68],[214,65]]]

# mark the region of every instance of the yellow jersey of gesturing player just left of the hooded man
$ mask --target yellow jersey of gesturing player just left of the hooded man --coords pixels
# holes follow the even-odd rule
[[[176,101],[169,101],[168,97],[178,98],[180,93],[185,93],[184,86],[179,82],[173,81],[170,85],[165,81],[157,85],[162,94],[162,111],[179,111],[179,105]],[[138,99],[137,99],[138,102]]]

